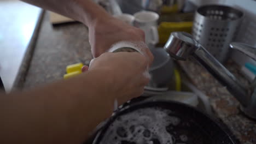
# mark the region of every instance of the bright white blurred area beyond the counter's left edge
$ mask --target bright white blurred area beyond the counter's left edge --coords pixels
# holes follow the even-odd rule
[[[18,0],[1,0],[0,9],[0,75],[5,89],[9,91],[42,9]]]

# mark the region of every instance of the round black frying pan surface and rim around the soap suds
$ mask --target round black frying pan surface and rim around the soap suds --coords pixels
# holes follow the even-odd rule
[[[179,135],[184,133],[188,136],[188,141],[186,143],[189,144],[238,143],[238,141],[235,140],[235,137],[232,136],[232,134],[224,124],[217,122],[216,119],[207,116],[205,113],[195,109],[194,107],[174,101],[143,101],[131,104],[129,106],[125,106],[118,112],[115,112],[114,116],[112,116],[104,125],[104,127],[97,133],[97,136],[94,139],[94,144],[100,143],[109,125],[112,124],[119,116],[125,115],[126,113],[132,111],[136,111],[138,109],[155,106],[162,109],[171,110],[172,112],[170,113],[170,115],[182,119],[181,123],[176,125],[172,129],[172,131],[176,131],[176,133],[174,134],[171,132],[172,135],[176,138],[175,143],[182,142],[179,141]],[[157,142],[155,142],[154,144],[156,143]]]

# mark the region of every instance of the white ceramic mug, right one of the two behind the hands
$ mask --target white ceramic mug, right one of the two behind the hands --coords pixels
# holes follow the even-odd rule
[[[133,26],[141,28],[145,32],[146,44],[155,45],[159,42],[158,19],[159,15],[153,11],[139,11],[133,15]]]

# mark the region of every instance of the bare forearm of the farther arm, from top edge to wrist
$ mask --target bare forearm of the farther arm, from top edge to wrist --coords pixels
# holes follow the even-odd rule
[[[86,26],[92,25],[97,19],[105,19],[110,15],[92,0],[22,0],[44,9],[54,11]]]

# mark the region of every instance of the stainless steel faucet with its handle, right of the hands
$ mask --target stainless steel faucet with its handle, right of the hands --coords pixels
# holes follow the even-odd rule
[[[254,47],[241,43],[231,43],[230,46],[256,59]],[[192,35],[185,32],[171,33],[164,49],[176,60],[185,61],[188,57],[196,59],[240,101],[241,110],[247,116],[256,119],[256,79],[254,79],[251,87],[244,87],[228,69],[219,63],[202,45],[197,43]]]

